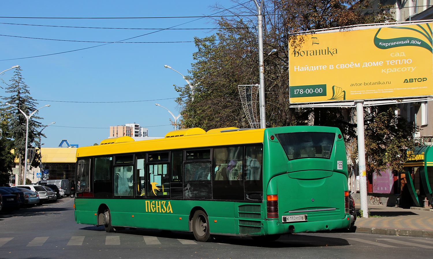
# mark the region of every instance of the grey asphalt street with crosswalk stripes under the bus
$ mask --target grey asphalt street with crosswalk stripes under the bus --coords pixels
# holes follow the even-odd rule
[[[228,237],[209,243],[192,233],[76,224],[72,198],[0,213],[0,259],[58,258],[431,258],[433,239],[363,233],[303,233],[274,242]]]

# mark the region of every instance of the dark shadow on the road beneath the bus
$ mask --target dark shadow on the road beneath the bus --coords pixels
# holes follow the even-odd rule
[[[103,226],[83,227],[81,230],[89,231],[105,231]],[[168,230],[152,230],[152,229],[130,229],[125,228],[116,231],[117,234],[137,235],[137,236],[152,236],[170,239],[195,240],[192,232],[168,231]],[[197,242],[197,241],[196,241]],[[197,242],[200,243],[200,242]],[[283,235],[275,241],[253,240],[251,237],[228,237],[215,236],[210,243],[230,244],[237,246],[254,246],[267,248],[284,248],[284,247],[322,247],[322,246],[350,246],[346,239],[338,237],[320,237],[311,234],[289,234]]]

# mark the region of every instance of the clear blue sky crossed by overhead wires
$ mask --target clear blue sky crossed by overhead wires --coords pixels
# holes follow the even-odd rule
[[[216,13],[214,4],[229,8],[230,0],[216,1],[2,1],[3,17],[169,17],[206,16]],[[196,20],[196,21],[194,21]],[[191,22],[193,21],[193,22]],[[182,23],[188,22],[184,25]],[[29,25],[12,25],[29,24]],[[39,100],[39,116],[48,126],[43,133],[43,147],[57,147],[61,140],[80,146],[99,143],[109,136],[109,127],[125,123],[139,123],[149,128],[149,136],[165,136],[173,130],[171,115],[161,104],[178,115],[174,102],[178,93],[173,85],[186,82],[169,65],[185,76],[192,54],[197,51],[189,43],[114,43],[93,47],[101,43],[71,41],[120,41],[156,30],[62,28],[30,25],[55,25],[110,28],[215,28],[209,18],[162,19],[23,19],[0,18],[0,34],[30,38],[0,36],[0,71],[14,65],[21,66],[26,84],[33,98]],[[193,41],[215,30],[164,30],[134,38],[135,42]],[[93,47],[81,51],[81,48]],[[49,55],[58,52],[64,54]],[[24,58],[24,59],[17,59]],[[17,59],[17,60],[10,60]],[[8,82],[13,70],[0,78]],[[0,89],[1,96],[6,85]],[[158,100],[162,99],[162,100]],[[158,100],[158,101],[143,101]],[[67,102],[59,102],[67,101]],[[74,103],[114,102],[125,103]]]

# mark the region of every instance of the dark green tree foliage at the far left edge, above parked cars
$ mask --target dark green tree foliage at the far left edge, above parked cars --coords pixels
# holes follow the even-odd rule
[[[0,108],[0,129],[2,137],[0,139],[0,186],[9,186],[10,176],[12,172],[13,159],[15,155],[11,153],[13,149],[13,141],[10,138],[8,121],[10,114],[5,109]]]

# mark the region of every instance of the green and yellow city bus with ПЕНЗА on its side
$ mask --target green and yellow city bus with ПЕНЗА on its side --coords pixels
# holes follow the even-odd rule
[[[338,128],[175,130],[77,149],[75,221],[275,239],[350,226]]]

